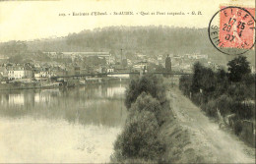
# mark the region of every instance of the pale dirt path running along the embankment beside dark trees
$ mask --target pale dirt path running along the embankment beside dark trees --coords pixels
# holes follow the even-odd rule
[[[220,130],[178,88],[168,91],[170,106],[178,124],[188,132],[191,147],[214,163],[255,163],[255,149],[231,133]]]

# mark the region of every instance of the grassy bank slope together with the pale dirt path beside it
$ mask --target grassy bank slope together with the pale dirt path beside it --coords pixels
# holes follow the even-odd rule
[[[161,126],[166,145],[163,161],[171,163],[254,163],[255,149],[224,132],[178,88],[167,92],[171,110]]]

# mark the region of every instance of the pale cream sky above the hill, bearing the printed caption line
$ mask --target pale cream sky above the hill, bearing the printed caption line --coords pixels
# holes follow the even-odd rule
[[[254,0],[16,0],[0,1],[0,42],[60,37],[111,26],[208,27],[221,5],[254,7]],[[113,12],[134,16],[113,16]],[[202,15],[191,15],[192,12]],[[108,16],[72,16],[107,12]],[[185,16],[141,16],[141,12],[183,12]],[[112,15],[109,15],[111,13]],[[138,15],[136,15],[138,13]],[[59,16],[71,14],[71,16]]]

